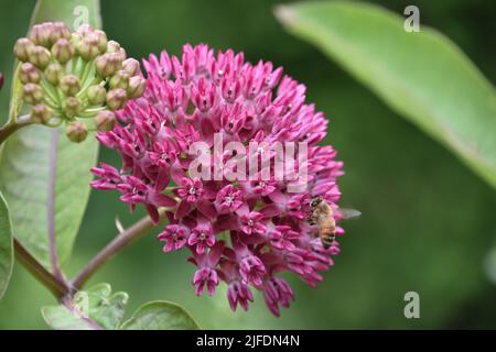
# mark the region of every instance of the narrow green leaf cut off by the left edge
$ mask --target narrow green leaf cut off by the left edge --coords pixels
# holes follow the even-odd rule
[[[12,226],[6,199],[0,193],[0,298],[9,285],[13,266]]]

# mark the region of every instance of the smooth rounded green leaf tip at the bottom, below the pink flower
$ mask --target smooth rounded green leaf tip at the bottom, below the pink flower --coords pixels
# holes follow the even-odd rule
[[[163,301],[150,301],[141,306],[126,321],[122,330],[198,330],[196,321],[180,306]]]

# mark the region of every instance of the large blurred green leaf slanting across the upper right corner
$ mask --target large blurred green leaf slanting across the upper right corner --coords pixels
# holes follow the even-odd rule
[[[495,90],[448,37],[424,25],[409,33],[403,18],[367,3],[304,2],[276,14],[496,187]]]

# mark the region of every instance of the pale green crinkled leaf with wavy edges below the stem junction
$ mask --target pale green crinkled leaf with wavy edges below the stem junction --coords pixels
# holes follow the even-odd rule
[[[64,305],[42,308],[48,326],[56,330],[115,330],[119,327],[128,294],[111,294],[108,284],[76,293]]]

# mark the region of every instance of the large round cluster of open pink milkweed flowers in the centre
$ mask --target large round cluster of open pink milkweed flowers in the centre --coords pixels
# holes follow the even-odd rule
[[[93,187],[120,193],[131,209],[143,205],[158,222],[166,208],[169,224],[159,234],[163,251],[187,249],[197,266],[192,283],[196,295],[213,295],[228,285],[233,310],[247,310],[254,289],[270,311],[289,307],[293,289],[280,273],[291,272],[311,286],[339,253],[338,241],[324,249],[315,227],[309,226],[310,202],[321,197],[336,211],[341,197],[336,178],[343,163],[330,145],[319,145],[327,120],[305,103],[305,86],[270,62],[252,65],[231,50],[214,53],[207,45],[185,45],[182,57],[150,55],[143,61],[147,89],[118,111],[120,123],[98,140],[117,150],[122,167],[101,164]],[[291,180],[211,180],[192,178],[190,146],[197,141],[213,147],[238,141],[305,142],[308,180],[300,193],[288,191]],[[224,157],[224,156],[222,156]],[[277,155],[271,155],[272,158]],[[336,234],[343,234],[336,228]]]

